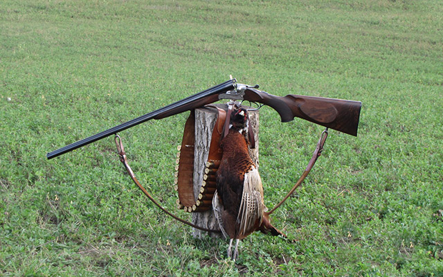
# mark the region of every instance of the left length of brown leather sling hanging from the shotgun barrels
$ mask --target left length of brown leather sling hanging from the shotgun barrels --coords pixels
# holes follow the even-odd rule
[[[125,166],[132,181],[134,181],[134,183],[138,186],[138,188],[141,189],[141,191],[146,195],[146,197],[149,198],[152,201],[152,203],[156,204],[156,206],[158,206],[161,209],[161,211],[165,212],[167,215],[170,215],[172,218],[174,218],[174,220],[178,220],[179,222],[182,222],[184,224],[188,224],[189,226],[192,226],[195,229],[199,229],[201,231],[206,231],[206,232],[221,233],[221,231],[219,231],[219,230],[206,229],[204,227],[192,224],[191,222],[188,222],[187,220],[183,220],[180,217],[177,217],[177,215],[173,215],[168,210],[163,208],[163,206],[161,206],[158,202],[156,202],[156,200],[150,195],[150,193],[148,193],[147,190],[145,188],[143,188],[143,186],[140,184],[140,182],[136,178],[136,175],[134,175],[132,168],[129,166],[129,164],[127,162],[127,158],[126,158],[125,148],[123,148],[123,143],[122,143],[122,140],[120,139],[120,136],[116,135],[115,141],[116,141],[116,145],[117,145],[118,155],[120,156],[120,161]]]

